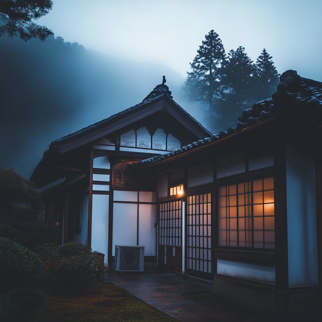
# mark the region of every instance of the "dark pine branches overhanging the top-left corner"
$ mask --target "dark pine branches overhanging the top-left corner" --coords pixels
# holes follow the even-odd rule
[[[7,33],[10,38],[19,36],[24,41],[31,38],[44,41],[53,35],[52,31],[33,20],[48,14],[51,9],[51,0],[1,0],[0,37]]]

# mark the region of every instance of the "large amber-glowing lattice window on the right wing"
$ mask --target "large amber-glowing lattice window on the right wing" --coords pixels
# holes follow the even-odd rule
[[[274,178],[219,187],[219,246],[275,248]]]

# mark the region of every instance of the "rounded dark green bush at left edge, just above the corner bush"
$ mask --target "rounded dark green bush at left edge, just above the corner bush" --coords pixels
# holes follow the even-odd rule
[[[40,279],[42,263],[33,252],[7,238],[0,238],[1,293],[34,286]]]

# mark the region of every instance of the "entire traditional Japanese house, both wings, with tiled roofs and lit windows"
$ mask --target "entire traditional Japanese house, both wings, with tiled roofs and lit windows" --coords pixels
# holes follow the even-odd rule
[[[213,280],[223,298],[309,319],[322,307],[322,83],[296,71],[280,81],[217,135],[163,84],[52,142],[31,177],[42,220],[109,264],[116,244],[144,245],[149,268],[157,261]]]

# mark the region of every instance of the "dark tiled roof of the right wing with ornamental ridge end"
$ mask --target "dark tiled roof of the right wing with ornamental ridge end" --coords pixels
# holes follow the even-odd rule
[[[134,166],[147,166],[183,154],[285,112],[307,115],[321,120],[322,82],[300,77],[296,71],[285,71],[280,76],[277,92],[270,99],[262,100],[254,104],[250,109],[243,110],[242,115],[238,118],[239,122],[236,128],[229,129],[227,132],[220,132],[211,137],[206,137],[203,140],[193,142],[173,152],[139,161]]]

